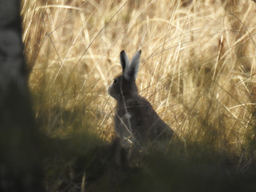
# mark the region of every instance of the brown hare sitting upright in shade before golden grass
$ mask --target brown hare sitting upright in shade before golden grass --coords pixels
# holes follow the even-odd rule
[[[173,130],[159,118],[151,104],[138,94],[135,80],[138,74],[139,50],[132,61],[124,50],[120,53],[123,72],[113,80],[108,93],[117,101],[115,131],[124,147],[143,146],[146,142],[173,137]]]

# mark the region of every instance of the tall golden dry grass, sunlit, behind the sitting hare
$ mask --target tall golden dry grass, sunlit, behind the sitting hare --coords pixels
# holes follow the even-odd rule
[[[23,0],[37,118],[54,136],[90,127],[110,139],[115,101],[106,90],[121,72],[118,55],[141,49],[140,94],[185,147],[198,142],[244,158],[256,137],[255,6]]]

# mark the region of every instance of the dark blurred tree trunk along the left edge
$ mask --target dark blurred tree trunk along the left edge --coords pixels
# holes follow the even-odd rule
[[[43,191],[19,2],[0,0],[0,191]]]

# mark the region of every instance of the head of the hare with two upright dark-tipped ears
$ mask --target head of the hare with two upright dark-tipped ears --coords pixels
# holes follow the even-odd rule
[[[113,96],[117,101],[120,101],[126,96],[128,97],[138,93],[135,80],[139,69],[140,53],[141,51],[139,50],[132,58],[131,62],[129,62],[129,58],[124,50],[120,53],[123,73],[116,77],[108,88],[110,96]]]

